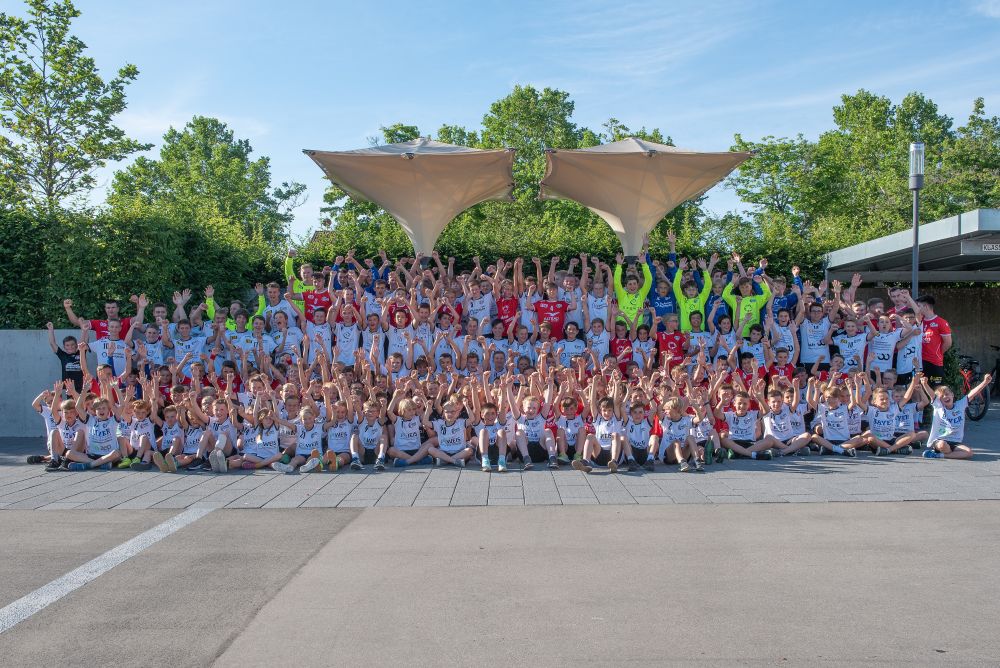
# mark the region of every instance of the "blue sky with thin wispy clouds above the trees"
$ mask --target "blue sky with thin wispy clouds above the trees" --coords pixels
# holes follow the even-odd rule
[[[133,136],[217,116],[270,156],[275,182],[305,183],[296,235],[324,184],[301,149],[362,147],[397,121],[478,128],[515,84],[568,91],[580,125],[614,116],[702,150],[736,132],[815,138],[862,87],[920,91],[956,124],[978,96],[1000,113],[1000,0],[496,4],[77,0],[74,31],[105,72],[139,67],[119,119]],[[709,194],[710,210],[738,206]]]

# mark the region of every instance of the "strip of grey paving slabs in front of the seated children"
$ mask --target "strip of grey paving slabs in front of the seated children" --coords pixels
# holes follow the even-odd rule
[[[419,466],[382,473],[46,473],[23,464],[37,440],[0,440],[0,509],[328,508],[368,506],[630,505],[1000,499],[1000,411],[967,423],[972,461],[906,457],[730,460],[703,474],[586,475],[569,467],[506,474]],[[370,471],[370,469],[369,469]]]

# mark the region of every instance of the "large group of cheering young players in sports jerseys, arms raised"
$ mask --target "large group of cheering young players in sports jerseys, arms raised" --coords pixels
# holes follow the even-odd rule
[[[969,458],[931,296],[770,275],[766,259],[437,253],[285,262],[250,303],[108,301],[49,343],[47,470],[283,473],[677,467],[810,454]],[[130,310],[132,307],[129,307]],[[96,364],[91,368],[87,353]],[[931,406],[930,419],[924,417]]]

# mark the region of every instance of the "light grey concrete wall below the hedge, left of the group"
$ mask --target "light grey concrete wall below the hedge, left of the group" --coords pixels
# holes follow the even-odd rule
[[[56,341],[80,336],[80,330],[57,329]],[[93,371],[93,353],[90,369]],[[49,349],[43,330],[0,330],[0,437],[44,436],[42,418],[31,401],[60,377],[59,359]]]

